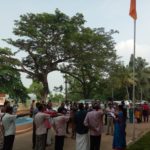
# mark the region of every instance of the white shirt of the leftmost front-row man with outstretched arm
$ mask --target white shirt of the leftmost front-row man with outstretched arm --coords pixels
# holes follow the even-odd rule
[[[5,136],[15,135],[15,132],[16,132],[16,124],[15,124],[16,117],[17,117],[17,115],[12,115],[12,114],[8,114],[8,113],[6,113],[3,116],[2,123],[3,123],[3,126],[4,126],[4,130],[5,130]]]

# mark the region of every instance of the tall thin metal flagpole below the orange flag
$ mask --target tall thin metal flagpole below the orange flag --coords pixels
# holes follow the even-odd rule
[[[134,41],[133,41],[133,141],[135,140],[135,54],[136,54],[136,20],[134,20]]]

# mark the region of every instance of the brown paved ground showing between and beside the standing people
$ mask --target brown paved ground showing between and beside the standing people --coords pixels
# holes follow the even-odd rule
[[[136,137],[140,137],[143,133],[150,130],[150,123],[141,123],[135,125]],[[133,125],[127,125],[127,143],[132,140]],[[64,150],[75,150],[75,140],[70,138],[70,135],[65,139]],[[53,141],[54,143],[54,141]],[[54,144],[47,147],[46,150],[54,150]],[[32,150],[32,132],[20,134],[16,136],[13,150]],[[102,135],[101,150],[112,150],[112,136]]]

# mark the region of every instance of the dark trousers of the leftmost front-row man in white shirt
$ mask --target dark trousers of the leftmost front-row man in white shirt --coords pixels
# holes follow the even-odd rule
[[[15,135],[4,136],[4,148],[3,150],[12,150]]]

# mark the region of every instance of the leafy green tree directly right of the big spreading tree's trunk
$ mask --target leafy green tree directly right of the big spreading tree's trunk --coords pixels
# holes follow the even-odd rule
[[[99,89],[100,80],[106,78],[108,70],[116,63],[114,31],[105,32],[103,28],[83,28],[78,35],[81,53],[62,69],[69,76],[70,92],[80,94],[81,98],[93,98]],[[100,91],[99,91],[100,92]]]

